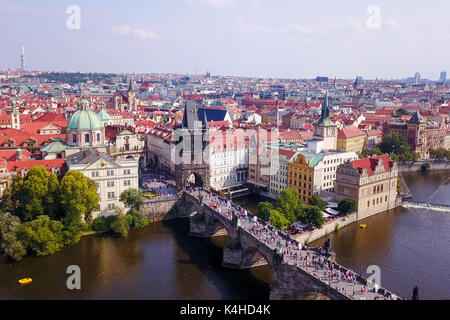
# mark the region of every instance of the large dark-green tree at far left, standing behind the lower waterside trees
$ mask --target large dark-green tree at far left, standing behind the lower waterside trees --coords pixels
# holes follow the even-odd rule
[[[44,167],[31,167],[25,177],[15,177],[5,190],[1,209],[18,216],[22,222],[43,214],[58,218],[61,212],[58,178]]]

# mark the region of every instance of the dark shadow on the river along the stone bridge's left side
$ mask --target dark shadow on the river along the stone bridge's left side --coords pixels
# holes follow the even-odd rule
[[[228,237],[202,239],[189,236],[189,219],[165,220],[165,227],[172,231],[177,246],[189,257],[177,263],[194,265],[201,270],[208,282],[220,292],[219,299],[269,299],[272,272],[269,266],[251,270],[235,270],[222,267],[223,246]],[[204,297],[204,299],[215,299]]]

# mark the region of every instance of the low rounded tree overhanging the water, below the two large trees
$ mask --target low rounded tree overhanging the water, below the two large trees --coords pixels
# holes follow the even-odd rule
[[[53,254],[64,246],[64,226],[46,215],[22,224],[19,238],[37,256]]]

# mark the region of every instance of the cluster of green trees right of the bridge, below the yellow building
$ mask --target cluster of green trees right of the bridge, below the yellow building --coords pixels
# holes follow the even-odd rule
[[[310,205],[303,206],[298,190],[289,188],[281,191],[281,195],[277,197],[274,205],[270,202],[261,202],[258,208],[258,217],[270,221],[274,227],[280,230],[285,230],[296,221],[320,228],[325,222],[322,206],[325,209],[326,204],[318,197]]]

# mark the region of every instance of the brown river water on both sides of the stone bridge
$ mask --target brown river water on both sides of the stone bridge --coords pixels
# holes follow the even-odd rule
[[[405,175],[417,200],[428,199],[449,172]],[[240,201],[255,209],[257,199]],[[432,202],[450,204],[444,185]],[[410,298],[450,298],[450,213],[398,208],[331,234],[337,261],[364,273],[381,268],[382,285]],[[271,270],[221,267],[226,237],[188,236],[187,219],[158,222],[127,238],[89,236],[47,257],[0,261],[0,299],[268,299]],[[321,239],[312,245],[320,245]],[[69,265],[81,268],[81,290],[68,290]],[[28,286],[17,280],[33,278]]]

